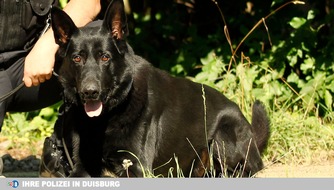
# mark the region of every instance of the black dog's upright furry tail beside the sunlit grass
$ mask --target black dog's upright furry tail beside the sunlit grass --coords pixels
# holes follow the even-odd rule
[[[256,100],[252,110],[252,131],[255,134],[257,147],[262,153],[270,136],[270,121],[263,104]]]

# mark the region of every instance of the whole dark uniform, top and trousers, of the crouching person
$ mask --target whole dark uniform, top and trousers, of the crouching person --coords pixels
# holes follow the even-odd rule
[[[0,0],[0,97],[22,83],[24,60],[46,25],[56,0]],[[54,56],[50,54],[50,56]],[[57,78],[35,87],[23,87],[0,102],[0,130],[6,112],[26,112],[61,100]]]

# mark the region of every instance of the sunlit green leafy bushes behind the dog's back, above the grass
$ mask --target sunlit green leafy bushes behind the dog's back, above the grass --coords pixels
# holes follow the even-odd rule
[[[328,20],[334,19],[333,15],[327,17]],[[309,10],[305,17],[292,17],[287,21],[285,30],[289,32],[281,38],[278,37],[280,33],[269,32],[269,28],[269,39],[275,39],[269,51],[255,50],[255,45],[246,39],[243,46],[249,49],[242,51],[240,58],[232,64],[230,55],[219,53],[221,48],[211,51],[201,58],[202,70],[195,79],[215,86],[232,98],[238,94],[236,87],[241,85],[242,93],[239,100],[235,99],[237,102],[256,98],[269,105],[289,104],[290,111],[305,110],[306,115],[331,121],[334,92],[332,45],[326,43],[319,49],[320,28],[325,27],[326,22],[317,21],[320,26],[316,29],[314,22],[315,11]],[[334,37],[329,36],[327,40],[331,42]]]

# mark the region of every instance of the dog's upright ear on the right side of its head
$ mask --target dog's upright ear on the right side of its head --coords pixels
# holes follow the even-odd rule
[[[123,40],[128,35],[128,25],[123,0],[113,0],[104,16],[103,27],[108,29],[114,40]]]

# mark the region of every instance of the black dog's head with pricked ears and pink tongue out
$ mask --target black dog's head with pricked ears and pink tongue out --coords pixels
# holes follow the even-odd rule
[[[63,63],[59,80],[65,100],[82,104],[88,116],[122,102],[132,86],[132,69],[124,55],[128,33],[124,4],[114,0],[99,24],[77,28],[61,9],[53,8],[52,29]]]

